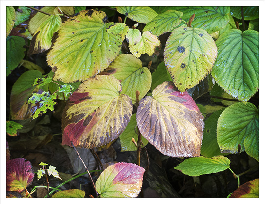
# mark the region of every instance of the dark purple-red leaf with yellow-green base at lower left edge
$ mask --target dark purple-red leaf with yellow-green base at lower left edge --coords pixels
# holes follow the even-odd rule
[[[6,162],[6,190],[22,192],[34,178],[31,163],[24,158],[11,159]]]

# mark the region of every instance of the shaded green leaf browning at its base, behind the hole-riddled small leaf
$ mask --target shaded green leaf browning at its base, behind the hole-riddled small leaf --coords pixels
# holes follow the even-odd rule
[[[31,117],[31,104],[28,98],[36,88],[32,86],[36,78],[42,77],[39,71],[26,71],[14,83],[10,98],[10,111],[12,120],[25,120]]]

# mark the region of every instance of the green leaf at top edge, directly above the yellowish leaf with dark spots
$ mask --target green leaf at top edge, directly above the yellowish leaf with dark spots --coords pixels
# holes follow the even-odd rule
[[[180,6],[177,10],[183,13],[185,22],[195,14],[192,27],[204,29],[208,33],[222,30],[229,22],[229,6]]]

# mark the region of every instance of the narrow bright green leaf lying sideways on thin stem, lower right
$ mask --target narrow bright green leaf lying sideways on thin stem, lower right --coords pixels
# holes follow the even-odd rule
[[[200,176],[203,174],[217,173],[229,168],[230,160],[224,156],[213,158],[194,157],[185,159],[182,163],[175,167],[188,176]]]

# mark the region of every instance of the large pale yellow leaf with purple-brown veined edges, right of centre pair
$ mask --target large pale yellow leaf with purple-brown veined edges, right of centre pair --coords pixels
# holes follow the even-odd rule
[[[187,93],[164,82],[143,98],[136,113],[142,135],[170,157],[200,156],[203,116]]]

